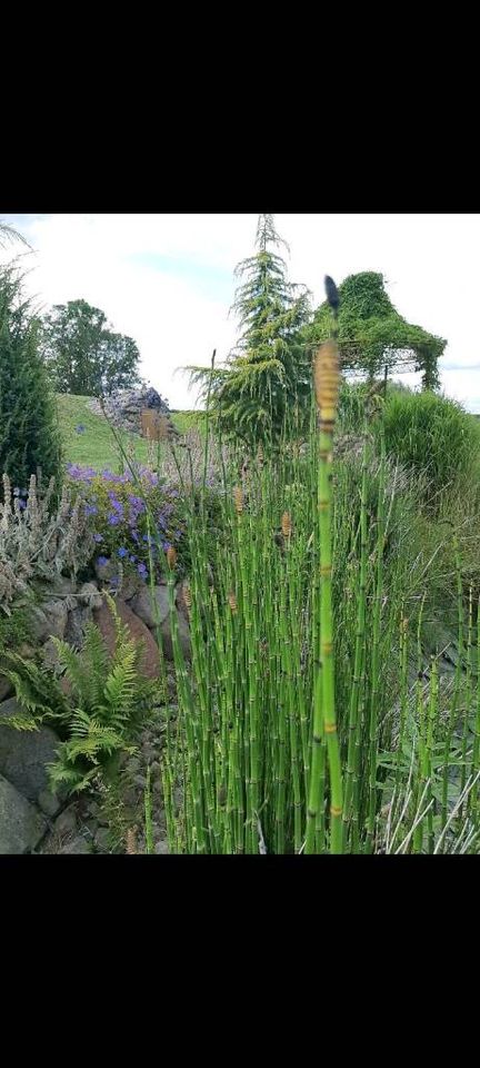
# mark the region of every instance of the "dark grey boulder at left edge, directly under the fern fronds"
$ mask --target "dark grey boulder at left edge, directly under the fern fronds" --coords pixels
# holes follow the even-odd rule
[[[0,774],[26,798],[36,801],[49,787],[46,765],[56,760],[59,740],[50,726],[17,731],[6,725],[9,716],[20,713],[22,710],[14,698],[0,704]]]

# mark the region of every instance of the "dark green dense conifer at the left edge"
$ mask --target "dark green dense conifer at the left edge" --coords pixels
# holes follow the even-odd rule
[[[61,445],[53,395],[39,355],[39,323],[14,267],[0,267],[0,474],[27,487],[41,468],[60,482]]]

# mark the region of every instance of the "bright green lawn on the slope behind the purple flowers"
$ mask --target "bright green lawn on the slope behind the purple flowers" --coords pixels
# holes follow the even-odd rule
[[[59,395],[57,400],[66,463],[93,467],[96,471],[107,467],[111,471],[119,469],[119,452],[112,432],[106,419],[90,411],[90,398],[63,394]],[[197,412],[172,414],[172,421],[180,434],[198,426],[201,418],[202,413]],[[84,426],[82,434],[76,429],[80,425]],[[147,463],[148,445],[143,438],[123,433],[122,441],[124,447],[132,447],[133,444],[138,463]]]

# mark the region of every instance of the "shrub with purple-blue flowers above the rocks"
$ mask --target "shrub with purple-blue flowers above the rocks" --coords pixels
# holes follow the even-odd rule
[[[174,486],[162,484],[148,467],[139,468],[140,484],[129,472],[98,474],[92,467],[78,464],[70,464],[67,469],[82,500],[83,515],[98,548],[94,561],[100,568],[118,561],[126,574],[147,580],[153,565],[158,578],[166,571],[170,545],[174,545],[181,567],[184,508]]]

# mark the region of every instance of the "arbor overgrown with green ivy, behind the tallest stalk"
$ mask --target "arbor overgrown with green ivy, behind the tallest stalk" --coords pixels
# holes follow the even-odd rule
[[[438,388],[438,360],[447,342],[399,315],[386,293],[383,275],[371,270],[349,275],[339,294],[338,339],[346,373],[363,372],[376,378],[392,370],[419,370],[423,389]],[[317,345],[330,332],[331,313],[324,301],[307,329],[308,340]]]

